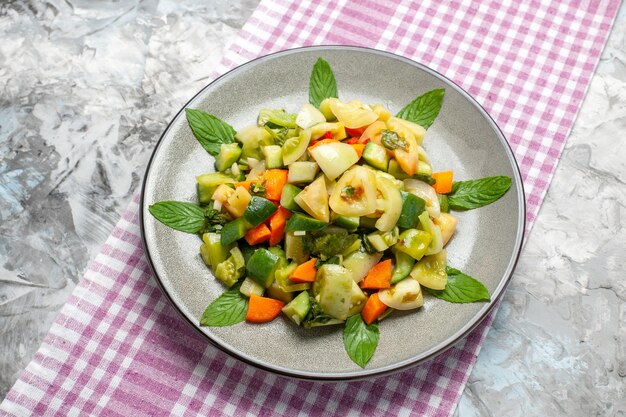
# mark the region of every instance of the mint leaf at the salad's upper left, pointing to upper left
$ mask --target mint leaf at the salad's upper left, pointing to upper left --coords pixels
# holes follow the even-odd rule
[[[193,135],[211,155],[220,153],[223,143],[235,141],[235,129],[212,114],[198,109],[185,109],[185,114]]]

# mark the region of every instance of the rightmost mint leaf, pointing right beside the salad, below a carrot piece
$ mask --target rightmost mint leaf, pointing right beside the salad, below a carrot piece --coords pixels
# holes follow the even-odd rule
[[[448,205],[452,210],[471,210],[491,204],[511,188],[511,178],[485,177],[477,180],[457,181],[452,184]]]

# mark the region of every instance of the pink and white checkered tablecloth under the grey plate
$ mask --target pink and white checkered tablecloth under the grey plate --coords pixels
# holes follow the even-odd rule
[[[218,73],[269,52],[319,44],[374,47],[426,64],[472,94],[508,138],[522,170],[530,228],[618,6],[617,0],[263,0]],[[285,379],[218,351],[179,319],[151,276],[138,212],[135,198],[0,415],[454,411],[495,313],[443,355],[396,375],[350,383]]]

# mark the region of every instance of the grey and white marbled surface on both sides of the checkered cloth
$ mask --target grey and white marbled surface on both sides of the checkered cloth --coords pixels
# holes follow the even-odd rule
[[[0,4],[0,399],[257,0]],[[457,415],[626,416],[626,7]]]

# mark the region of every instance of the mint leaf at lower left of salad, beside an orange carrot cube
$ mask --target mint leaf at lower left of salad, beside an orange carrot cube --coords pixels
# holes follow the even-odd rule
[[[240,287],[241,282],[233,285],[209,304],[200,318],[200,325],[230,326],[244,321],[248,311],[248,298],[239,292]]]

